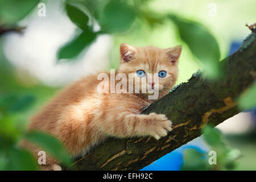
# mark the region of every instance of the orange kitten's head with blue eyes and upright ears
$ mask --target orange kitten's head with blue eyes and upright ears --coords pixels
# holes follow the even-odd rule
[[[175,85],[181,49],[181,46],[161,49],[153,46],[134,47],[121,44],[118,73],[125,73],[127,76],[130,73],[138,78],[134,79],[134,85],[139,85],[140,92],[143,88],[158,91],[159,99],[169,93]],[[129,79],[130,81],[133,80]]]

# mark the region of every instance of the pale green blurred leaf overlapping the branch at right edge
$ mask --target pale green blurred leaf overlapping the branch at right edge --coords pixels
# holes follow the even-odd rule
[[[241,109],[251,109],[256,106],[256,82],[238,98],[238,104]]]

